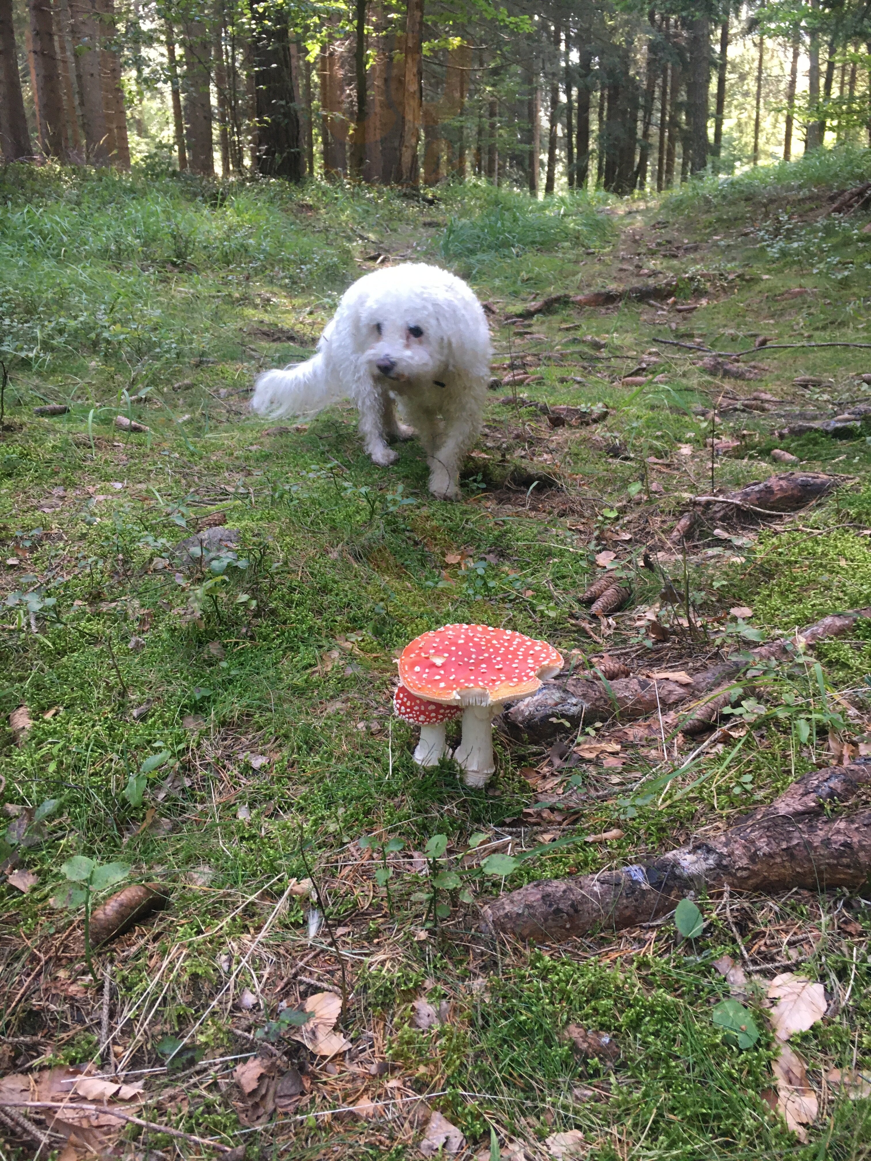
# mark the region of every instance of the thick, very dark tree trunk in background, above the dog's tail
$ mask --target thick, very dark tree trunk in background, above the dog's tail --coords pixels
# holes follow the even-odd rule
[[[290,70],[287,13],[262,0],[252,2],[257,171],[269,178],[302,181],[300,117]]]

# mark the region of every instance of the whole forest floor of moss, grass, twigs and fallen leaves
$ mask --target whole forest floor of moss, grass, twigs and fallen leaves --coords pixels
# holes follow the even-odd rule
[[[669,916],[535,946],[480,911],[719,831],[865,752],[869,622],[769,675],[678,773],[699,738],[592,722],[555,745],[499,730],[472,791],[451,760],[412,763],[390,705],[398,651],[451,621],[544,637],[576,668],[693,673],[871,605],[871,425],[775,434],[871,402],[871,219],[826,214],[870,175],[844,153],[555,212],[478,187],[426,204],[6,173],[0,1099],[64,1105],[0,1106],[6,1155],[871,1156],[862,893],[713,895],[694,938]],[[427,493],[416,442],[375,468],[350,406],[247,410],[254,373],[304,356],[354,276],[409,258],[468,277],[492,325],[456,504]],[[753,381],[700,365],[761,338]],[[69,406],[35,413],[50,404]],[[581,410],[548,418],[559,404]],[[693,496],[789,470],[773,449],[836,491],[676,548]],[[179,548],[210,528],[231,534],[208,557]],[[632,594],[598,619],[580,596],[609,562]],[[505,878],[482,866],[495,852]],[[127,882],[168,906],[95,949],[94,979],[82,899]],[[712,1018],[724,956],[762,983],[743,1048]],[[790,1040],[799,1135],[772,1110],[764,998],[793,965],[825,989]],[[581,1052],[568,1025],[612,1039]]]

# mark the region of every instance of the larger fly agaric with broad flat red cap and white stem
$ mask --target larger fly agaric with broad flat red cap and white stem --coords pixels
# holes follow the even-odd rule
[[[485,786],[496,769],[492,720],[506,701],[526,698],[562,669],[546,641],[488,625],[446,625],[423,633],[399,657],[399,680],[442,706],[462,706],[462,741],[454,758],[467,786]]]

